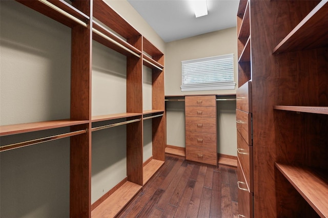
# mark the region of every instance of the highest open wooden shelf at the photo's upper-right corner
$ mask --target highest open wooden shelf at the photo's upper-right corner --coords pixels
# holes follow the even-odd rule
[[[321,1],[273,50],[274,54],[328,46],[328,2]]]

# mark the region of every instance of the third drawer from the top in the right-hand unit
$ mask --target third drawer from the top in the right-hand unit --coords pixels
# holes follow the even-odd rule
[[[253,146],[249,146],[237,131],[237,157],[242,168],[245,182],[253,192]]]

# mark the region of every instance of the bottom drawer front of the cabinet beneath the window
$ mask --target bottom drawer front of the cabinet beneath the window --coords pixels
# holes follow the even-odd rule
[[[186,144],[186,160],[217,165],[217,151]]]

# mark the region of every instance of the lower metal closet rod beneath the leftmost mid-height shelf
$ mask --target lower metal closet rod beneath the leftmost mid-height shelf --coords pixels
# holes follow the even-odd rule
[[[83,130],[78,130],[78,131],[71,132],[71,133],[64,133],[64,134],[59,134],[56,136],[49,136],[49,137],[45,137],[45,138],[34,139],[34,140],[30,140],[30,141],[25,141],[25,142],[19,142],[19,143],[10,144],[10,145],[4,145],[4,146],[0,147],[0,152],[5,151],[5,150],[19,148],[19,147],[34,145],[34,144],[38,144],[38,143],[42,143],[42,142],[48,142],[48,141],[52,141],[52,140],[56,140],[56,139],[62,139],[62,138],[70,137],[70,136],[76,136],[79,134],[84,134],[87,131],[88,131],[88,129],[83,129]]]

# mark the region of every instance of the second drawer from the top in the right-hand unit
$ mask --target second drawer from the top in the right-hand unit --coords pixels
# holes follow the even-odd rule
[[[252,114],[237,109],[236,126],[248,145],[252,145]]]

